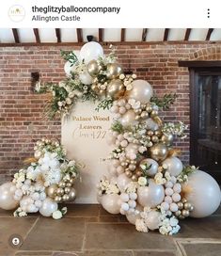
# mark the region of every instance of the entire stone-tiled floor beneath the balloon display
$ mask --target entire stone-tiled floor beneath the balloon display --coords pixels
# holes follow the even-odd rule
[[[12,248],[11,235],[23,240]],[[185,219],[174,236],[136,232],[124,216],[99,205],[70,205],[60,220],[38,215],[15,218],[0,210],[0,256],[218,256],[221,208],[203,219]]]

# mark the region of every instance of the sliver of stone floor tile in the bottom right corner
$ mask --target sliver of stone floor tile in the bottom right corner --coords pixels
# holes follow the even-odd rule
[[[221,255],[221,244],[198,243],[182,244],[187,256],[218,256]]]

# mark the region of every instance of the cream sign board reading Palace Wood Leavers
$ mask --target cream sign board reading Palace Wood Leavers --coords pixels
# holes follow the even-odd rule
[[[109,110],[95,110],[96,104],[77,103],[69,120],[62,121],[61,140],[69,159],[83,163],[81,180],[74,184],[77,203],[98,203],[96,185],[107,173],[112,147],[106,143],[113,116]]]

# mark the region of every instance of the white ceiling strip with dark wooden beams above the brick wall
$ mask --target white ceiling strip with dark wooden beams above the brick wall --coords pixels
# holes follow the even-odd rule
[[[0,46],[82,44],[88,35],[100,42],[115,43],[221,41],[218,28],[1,28]]]

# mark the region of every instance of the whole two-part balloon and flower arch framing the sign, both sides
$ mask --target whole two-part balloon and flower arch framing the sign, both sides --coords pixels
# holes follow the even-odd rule
[[[111,214],[125,215],[139,232],[179,232],[179,220],[210,216],[221,201],[219,185],[208,173],[182,165],[172,147],[176,136],[185,137],[182,122],[164,122],[159,110],[167,109],[175,95],[153,95],[147,81],[125,74],[115,49],[103,55],[103,47],[87,42],[80,51],[61,52],[67,61],[67,79],[59,84],[37,85],[37,92],[51,92],[50,118],[68,116],[77,101],[98,102],[110,109],[114,121],[108,143],[111,152],[108,176],[98,184],[98,201]],[[79,165],[66,158],[58,142],[37,143],[29,167],[15,174],[12,183],[0,187],[0,207],[14,209],[15,216],[38,212],[59,218],[66,209],[57,203],[75,198],[72,187]]]

